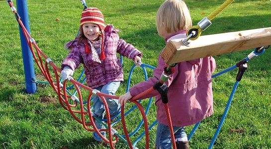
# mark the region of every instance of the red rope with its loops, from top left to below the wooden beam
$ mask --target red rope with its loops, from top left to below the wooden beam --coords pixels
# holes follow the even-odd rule
[[[8,3],[10,7],[13,6],[12,2],[9,2]],[[14,13],[17,13],[16,10],[13,11]],[[108,125],[108,129],[100,129],[98,130],[96,128],[96,126],[94,125],[94,120],[92,118],[92,115],[91,115],[91,112],[90,112],[90,96],[92,95],[92,88],[90,88],[89,86],[86,86],[80,82],[77,82],[76,80],[74,79],[70,79],[70,81],[75,85],[77,91],[78,91],[78,95],[79,95],[79,102],[80,102],[80,111],[77,111],[77,110],[72,110],[72,107],[76,107],[77,106],[77,102],[75,102],[75,104],[70,104],[69,101],[68,101],[68,98],[71,98],[71,96],[68,96],[67,95],[67,92],[66,92],[66,80],[64,80],[64,84],[63,84],[63,89],[60,87],[60,82],[59,82],[59,76],[58,76],[58,73],[61,72],[61,70],[55,66],[55,64],[50,61],[50,62],[46,62],[45,63],[45,67],[43,65],[43,61],[42,61],[42,58],[41,56],[44,58],[44,59],[48,59],[47,56],[40,50],[40,48],[37,46],[36,42],[35,41],[32,41],[30,42],[30,39],[31,39],[31,36],[30,34],[28,33],[28,31],[26,30],[26,28],[24,27],[22,21],[20,20],[20,18],[17,20],[18,23],[20,24],[22,30],[23,30],[23,34],[24,34],[24,37],[27,41],[27,44],[30,48],[30,51],[33,55],[33,58],[38,66],[38,68],[40,69],[41,73],[45,76],[45,78],[48,80],[49,84],[53,87],[53,89],[55,90],[55,92],[58,94],[58,99],[59,99],[59,103],[61,104],[61,106],[68,110],[71,115],[74,117],[74,119],[76,121],[78,121],[80,124],[83,125],[83,127],[88,130],[88,131],[95,131],[97,132],[97,134],[106,142],[106,143],[109,143],[110,144],[110,147],[112,149],[114,149],[113,147],[113,144],[115,144],[117,141],[118,141],[118,138],[114,135],[115,137],[115,141],[112,141],[112,133],[111,133],[111,121],[110,121],[110,114],[109,114],[109,108],[108,108],[108,105],[105,101],[105,98],[104,97],[107,97],[107,98],[113,98],[113,99],[118,99],[118,96],[115,96],[115,95],[109,95],[109,94],[104,94],[104,93],[100,93],[100,92],[97,92],[97,96],[99,96],[101,99],[102,99],[102,102],[104,103],[104,106],[105,106],[105,111],[106,111],[106,117],[107,117],[107,125]],[[32,45],[34,46],[34,48],[36,49],[36,53],[38,55],[38,59],[35,55],[35,52],[33,50],[33,47]],[[54,74],[55,74],[55,77],[56,77],[56,82],[54,82],[52,80],[52,77],[49,73],[49,69],[48,69],[48,64],[53,68],[54,70]],[[90,94],[88,96],[88,99],[87,99],[87,106],[88,106],[88,109],[87,112],[85,112],[84,110],[84,106],[83,106],[83,99],[82,99],[82,94],[81,94],[81,91],[80,91],[80,88],[79,86],[87,89],[90,91]],[[134,96],[132,99],[130,99],[131,102],[135,103],[136,106],[138,107],[138,109],[140,110],[140,113],[143,117],[143,121],[144,121],[144,129],[145,129],[145,134],[146,134],[146,137],[145,137],[145,141],[146,141],[146,146],[145,146],[145,149],[149,149],[149,131],[148,131],[148,122],[147,122],[147,118],[146,118],[146,115],[144,113],[144,110],[142,108],[142,106],[140,105],[139,102],[137,102],[136,100],[139,99],[140,97],[142,97],[143,95],[153,91],[154,89],[151,87],[149,89],[147,89],[146,91]],[[63,92],[62,92],[63,91]],[[166,109],[166,112],[167,112],[167,118],[168,118],[168,122],[169,122],[169,128],[170,131],[171,131],[171,138],[172,138],[172,142],[173,142],[173,148],[176,149],[176,144],[175,144],[175,139],[174,139],[174,132],[173,132],[173,129],[172,129],[172,123],[171,123],[171,118],[170,118],[170,113],[169,113],[169,108],[168,108],[168,105],[165,104],[165,109]],[[81,115],[81,120],[74,114],[74,113],[80,113]],[[89,123],[86,123],[85,122],[85,115],[88,115],[89,116],[89,119],[90,119],[90,122]],[[128,145],[131,149],[133,149],[132,147],[132,144],[131,144],[131,141],[129,139],[129,136],[128,136],[128,131],[127,131],[127,128],[126,128],[126,125],[125,125],[125,118],[124,118],[124,106],[121,107],[121,122],[122,122],[122,125],[123,125],[123,131],[125,133],[125,136],[126,136],[126,139],[127,139],[127,142],[128,142]],[[93,129],[90,129],[88,128],[88,126],[92,126]],[[108,135],[109,135],[109,140],[107,140],[106,138],[104,138],[101,134],[100,134],[100,131],[106,131],[108,132]]]

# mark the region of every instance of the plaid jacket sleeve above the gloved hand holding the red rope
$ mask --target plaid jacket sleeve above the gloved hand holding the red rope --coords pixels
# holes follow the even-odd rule
[[[77,47],[73,47],[72,51],[69,53],[69,55],[66,57],[66,59],[64,59],[62,65],[61,65],[61,69],[63,70],[63,68],[65,66],[69,66],[73,71],[75,71],[75,69],[77,69],[81,63],[81,54],[78,50]]]

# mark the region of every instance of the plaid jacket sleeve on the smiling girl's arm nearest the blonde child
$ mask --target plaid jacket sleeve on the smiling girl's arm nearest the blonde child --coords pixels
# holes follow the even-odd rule
[[[136,56],[142,57],[142,53],[139,50],[133,45],[126,43],[123,39],[118,40],[117,52],[131,60],[134,60]]]

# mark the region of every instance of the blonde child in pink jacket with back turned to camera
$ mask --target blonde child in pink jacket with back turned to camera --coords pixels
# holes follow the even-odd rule
[[[157,12],[156,25],[159,36],[163,37],[166,43],[171,39],[185,38],[186,29],[192,25],[185,2],[166,0]],[[154,77],[131,87],[129,92],[119,97],[120,104],[125,104],[133,96],[152,87],[159,80],[164,67],[165,62],[159,55]],[[215,67],[212,57],[181,62],[176,64],[175,72],[165,82],[168,85],[168,105],[177,149],[189,149],[184,126],[195,124],[213,114],[211,74]],[[152,96],[156,96],[157,106],[156,149],[171,149],[168,121],[160,94],[154,90],[142,99]]]

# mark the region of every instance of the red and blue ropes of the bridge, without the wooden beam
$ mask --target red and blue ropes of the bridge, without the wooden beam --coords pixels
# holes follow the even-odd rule
[[[84,0],[82,0],[84,1]],[[226,1],[226,4],[230,4],[231,2],[229,1],[233,1],[233,0],[227,0]],[[107,97],[107,98],[113,98],[113,99],[118,99],[118,96],[115,96],[115,95],[108,95],[108,94],[104,94],[104,93],[101,93],[99,92],[98,90],[96,89],[92,89],[90,88],[89,86],[86,86],[84,85],[84,81],[85,79],[83,79],[81,82],[79,81],[81,79],[81,77],[83,76],[84,74],[84,71],[82,72],[82,74],[80,75],[80,78],[78,80],[75,80],[72,76],[69,76],[68,80],[73,84],[72,86],[67,86],[67,80],[64,80],[63,83],[62,82],[62,79],[59,79],[59,73],[61,73],[61,70],[55,66],[55,64],[52,62],[52,60],[50,58],[48,58],[41,50],[40,48],[37,46],[35,40],[30,36],[30,34],[28,33],[28,31],[26,30],[26,28],[24,27],[22,21],[20,20],[20,17],[16,11],[16,8],[13,6],[12,4],[12,1],[11,0],[7,0],[8,2],[8,5],[10,6],[12,12],[15,13],[15,16],[16,16],[16,19],[20,25],[20,27],[22,28],[23,30],[23,35],[27,41],[27,44],[30,48],[30,51],[33,55],[33,59],[34,61],[36,62],[38,68],[40,69],[41,73],[45,76],[46,80],[48,81],[48,83],[52,86],[52,88],[54,89],[54,91],[58,94],[58,100],[59,100],[59,103],[61,104],[61,106],[66,109],[67,111],[69,111],[71,113],[71,115],[74,117],[74,119],[76,121],[78,121],[80,124],[83,125],[83,127],[88,130],[88,131],[95,131],[97,132],[97,134],[104,140],[104,142],[108,143],[111,147],[111,149],[115,149],[114,148],[114,144],[120,139],[122,140],[124,143],[126,143],[130,149],[136,149],[136,144],[137,142],[141,139],[141,137],[143,137],[144,135],[146,136],[145,137],[145,149],[149,149],[149,130],[157,123],[157,121],[154,121],[149,127],[148,127],[148,122],[147,122],[147,118],[146,118],[146,115],[148,113],[148,110],[150,108],[150,104],[151,104],[151,101],[152,101],[152,98],[149,99],[149,103],[148,103],[148,106],[146,108],[146,110],[144,111],[142,105],[140,104],[140,100],[138,101],[138,99],[140,97],[142,97],[144,94],[147,94],[149,92],[151,92],[152,90],[154,89],[157,89],[159,86],[155,86],[154,87],[151,87],[149,89],[147,89],[146,91],[142,92],[141,94],[137,95],[137,96],[134,96],[130,101],[133,102],[135,104],[134,107],[132,107],[129,111],[127,111],[126,113],[124,113],[124,106],[121,106],[121,117],[120,118],[116,118],[118,115],[114,116],[114,117],[110,117],[110,114],[109,114],[109,109],[108,109],[108,106],[107,106],[107,103],[105,101],[105,98],[104,97]],[[86,4],[84,2],[82,2],[84,7],[87,7]],[[225,4],[223,4],[224,7]],[[218,14],[217,12],[215,12],[215,14],[213,15],[216,15]],[[214,16],[211,15],[210,18],[212,19]],[[207,21],[208,22],[208,21]],[[199,25],[200,26],[200,25]],[[205,26],[206,27],[206,26]],[[202,28],[201,28],[202,29]],[[199,30],[201,30],[199,29]],[[192,27],[191,30],[195,31],[194,28]],[[204,30],[204,29],[202,29]],[[188,37],[187,39],[185,39],[184,41],[182,41],[182,45],[181,45],[181,49],[185,46],[189,46],[189,43],[188,43],[188,40],[191,39],[191,40],[194,40],[192,38],[197,38],[197,37],[193,37],[194,33],[190,32],[188,30],[187,33],[188,33]],[[197,32],[197,31],[195,31]],[[189,37],[190,36],[190,37]],[[268,34],[267,37],[270,37],[270,35]],[[270,43],[271,41],[269,40],[268,43]],[[179,43],[181,43],[179,41]],[[174,45],[175,43],[173,43]],[[168,46],[168,45],[167,45]],[[253,45],[251,45],[253,46]],[[34,51],[34,49],[35,51]],[[235,68],[239,68],[239,71],[238,71],[238,74],[237,74],[237,77],[236,77],[236,82],[234,84],[234,87],[232,89],[232,92],[231,92],[231,95],[229,97],[229,100],[228,100],[228,103],[226,105],[226,108],[225,108],[225,111],[223,113],[223,116],[222,116],[222,119],[220,121],[220,124],[217,128],[217,131],[209,145],[209,149],[212,148],[213,146],[213,143],[220,131],[220,128],[224,122],[224,119],[227,115],[227,111],[229,109],[229,106],[230,106],[230,103],[231,103],[231,100],[233,98],[233,95],[234,95],[234,92],[237,88],[237,85],[239,83],[239,81],[241,80],[244,72],[246,71],[247,69],[247,63],[253,59],[254,57],[258,56],[258,55],[261,55],[265,52],[265,49],[267,49],[269,46],[266,46],[266,47],[259,47],[259,48],[255,48],[255,50],[250,53],[246,58],[244,58],[243,60],[241,60],[240,62],[238,62],[236,65],[220,72],[220,73],[217,73],[217,74],[214,74],[212,75],[212,77],[216,77],[218,75],[221,75],[221,74],[224,74],[224,73],[227,73]],[[180,49],[180,46],[178,47]],[[178,49],[177,48],[177,49]],[[251,48],[251,47],[250,47]],[[165,48],[167,49],[167,48]],[[176,47],[175,47],[176,49]],[[169,50],[168,50],[169,51]],[[226,50],[226,52],[224,53],[227,53],[227,52],[231,52],[230,50]],[[167,53],[167,51],[165,50],[165,53]],[[186,52],[188,53],[188,52]],[[168,55],[168,54],[167,54]],[[178,53],[176,54],[176,52],[170,52],[170,56],[169,58],[163,58],[165,60],[165,62],[169,62],[168,64],[170,64],[171,66],[169,66],[169,69],[171,69],[170,67],[174,67],[174,63],[178,63],[178,62],[181,62],[182,60],[174,60],[174,61],[170,61],[172,60],[172,57],[174,55],[178,55]],[[180,55],[180,54],[179,54]],[[211,56],[212,54],[210,54]],[[192,59],[192,58],[191,58]],[[49,66],[53,68],[53,72],[54,72],[54,78],[55,80],[52,79],[52,76],[51,74],[49,73]],[[143,69],[144,71],[144,75],[145,75],[145,80],[147,79],[147,73],[146,73],[146,69],[145,68],[150,68],[150,69],[155,69],[154,67],[152,66],[149,66],[149,65],[146,65],[146,64],[141,64],[140,67]],[[130,70],[130,74],[129,74],[129,78],[128,78],[128,85],[127,85],[127,89],[126,91],[128,91],[129,89],[129,83],[130,83],[130,76],[132,74],[132,71],[133,69],[135,68],[135,65],[132,66],[131,70]],[[160,80],[160,82],[163,84],[165,80]],[[38,82],[38,81],[36,81]],[[161,84],[160,84],[161,85]],[[74,94],[70,93],[69,92],[69,89],[71,88],[75,88],[75,92]],[[81,89],[80,88],[83,88],[83,89],[86,89],[88,91],[88,97],[87,99],[83,100],[83,96],[82,96],[82,92],[81,92]],[[76,96],[75,94],[78,94],[78,96]],[[96,117],[94,117],[92,114],[91,114],[91,95],[92,94],[95,94],[97,96],[99,96],[102,100],[102,102],[104,103],[104,106],[105,106],[105,115],[106,115],[106,119],[97,119]],[[71,103],[73,102],[73,103]],[[84,106],[86,105],[86,106]],[[80,107],[80,110],[77,110],[76,107]],[[133,109],[135,108],[138,108],[140,113],[141,113],[141,116],[142,116],[142,120],[140,122],[140,124],[138,125],[138,127],[131,133],[131,134],[128,134],[128,131],[127,131],[127,128],[126,128],[126,124],[125,124],[125,116],[130,113]],[[166,109],[166,112],[167,112],[167,118],[168,118],[168,122],[169,122],[169,128],[172,128],[172,124],[171,124],[171,117],[170,117],[170,113],[169,113],[169,107],[168,107],[168,104],[166,103],[165,104],[165,109]],[[80,116],[76,116],[76,115],[80,115]],[[115,120],[113,120],[115,119]],[[105,126],[106,129],[100,129],[98,130],[95,125],[94,125],[94,120],[96,121],[99,121],[101,124],[103,124]],[[114,128],[113,126],[118,122],[118,121],[121,121],[122,123],[122,126],[123,126],[123,132],[124,132],[124,136],[123,135],[120,135]],[[106,123],[106,124],[105,124]],[[192,137],[193,133],[195,132],[196,128],[198,127],[200,122],[198,122],[197,124],[194,125],[194,128],[192,129],[192,131],[190,132],[189,136],[188,136],[188,140]],[[137,130],[144,124],[144,132],[139,135],[138,139],[132,144],[131,141],[130,141],[130,137],[132,135],[134,135]],[[101,131],[105,131],[108,133],[108,139],[104,138],[100,132]],[[171,130],[171,138],[172,138],[172,143],[173,143],[173,148],[176,149],[176,145],[175,145],[175,140],[174,140],[174,135],[173,135],[173,131]]]

